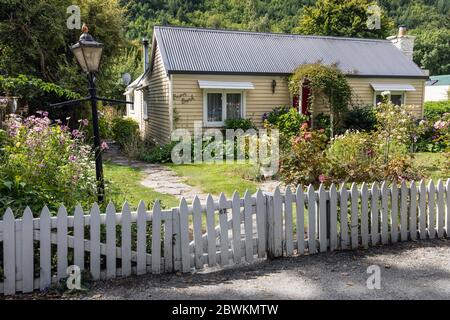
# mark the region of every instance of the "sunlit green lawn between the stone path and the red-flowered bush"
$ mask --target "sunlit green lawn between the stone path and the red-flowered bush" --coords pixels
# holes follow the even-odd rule
[[[230,197],[236,190],[242,196],[248,189],[256,192],[257,170],[250,164],[167,164],[183,181],[205,193]]]

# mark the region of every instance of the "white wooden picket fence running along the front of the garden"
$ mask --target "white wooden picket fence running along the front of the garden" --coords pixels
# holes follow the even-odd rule
[[[156,202],[147,211],[140,202],[137,212],[125,203],[120,213],[109,204],[103,214],[94,204],[88,214],[78,206],[73,215],[61,207],[50,216],[44,208],[33,218],[27,208],[15,219],[8,209],[0,221],[0,292],[44,290],[67,277],[69,262],[94,280],[111,279],[442,238],[449,236],[447,230],[450,179],[428,186],[423,181],[400,187],[384,182],[381,188],[364,183],[360,189],[353,184],[349,190],[287,187],[284,193],[259,190],[243,198],[235,192],[232,199],[208,196],[205,204],[182,199],[169,210]]]

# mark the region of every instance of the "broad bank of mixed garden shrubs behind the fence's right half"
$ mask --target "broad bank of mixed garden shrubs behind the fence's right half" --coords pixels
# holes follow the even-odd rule
[[[321,130],[303,125],[284,145],[280,173],[290,184],[401,181],[420,179],[411,145],[421,132],[405,107],[390,102],[376,109],[377,124],[370,132],[346,131],[328,141]],[[450,124],[449,124],[450,127]]]

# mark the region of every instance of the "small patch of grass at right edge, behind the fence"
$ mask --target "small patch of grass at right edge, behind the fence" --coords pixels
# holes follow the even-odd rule
[[[430,179],[437,181],[450,178],[445,174],[449,159],[444,153],[418,152],[414,162]]]

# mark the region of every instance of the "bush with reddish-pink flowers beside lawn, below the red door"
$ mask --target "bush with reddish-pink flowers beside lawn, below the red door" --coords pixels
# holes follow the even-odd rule
[[[305,122],[290,142],[290,147],[283,148],[280,155],[280,176],[283,181],[293,185],[317,186],[326,183],[325,150],[328,137],[324,130],[311,130]]]

